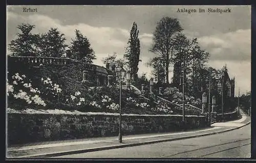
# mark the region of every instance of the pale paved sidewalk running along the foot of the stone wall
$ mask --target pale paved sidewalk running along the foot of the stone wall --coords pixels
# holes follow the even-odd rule
[[[85,153],[114,148],[139,146],[144,144],[174,141],[178,139],[217,134],[243,127],[250,123],[250,117],[241,111],[242,119],[212,124],[209,128],[172,132],[123,136],[119,143],[117,136],[84,138],[67,141],[41,142],[13,146],[7,149],[7,158],[49,158],[67,154]]]

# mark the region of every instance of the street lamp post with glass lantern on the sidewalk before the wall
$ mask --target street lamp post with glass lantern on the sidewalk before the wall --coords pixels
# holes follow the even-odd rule
[[[120,97],[119,97],[119,134],[118,134],[118,139],[119,139],[119,143],[122,143],[122,123],[121,123],[121,118],[122,118],[122,113],[121,113],[121,91],[122,91],[122,82],[124,80],[125,77],[125,71],[124,69],[121,67],[120,70],[118,70],[116,72],[117,78],[119,80],[119,84],[120,84]]]

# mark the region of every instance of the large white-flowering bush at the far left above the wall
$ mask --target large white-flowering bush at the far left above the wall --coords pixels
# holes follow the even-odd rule
[[[7,81],[8,105],[46,106],[45,101],[40,97],[40,90],[32,86],[31,80],[27,79],[26,75],[16,73],[11,81],[12,84]]]

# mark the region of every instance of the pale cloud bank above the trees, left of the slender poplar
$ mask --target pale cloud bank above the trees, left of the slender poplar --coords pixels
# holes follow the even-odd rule
[[[69,44],[71,39],[75,37],[75,29],[80,30],[81,33],[86,36],[95,53],[111,53],[114,48],[123,50],[126,46],[128,31],[120,28],[111,27],[94,27],[87,24],[76,25],[62,25],[58,19],[53,19],[48,16],[33,14],[28,16],[18,15],[12,12],[7,14],[8,28],[14,28],[10,26],[12,22],[16,22],[16,26],[21,23],[29,23],[35,25],[33,33],[45,33],[50,28],[57,28],[60,32],[65,34],[67,43]],[[11,35],[8,35],[12,37]],[[9,40],[13,38],[8,38]]]

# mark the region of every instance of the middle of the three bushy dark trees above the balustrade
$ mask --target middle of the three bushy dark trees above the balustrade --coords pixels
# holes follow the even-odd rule
[[[66,53],[66,47],[68,46],[65,44],[66,38],[64,36],[56,28],[51,28],[47,33],[38,35],[37,52],[39,56],[62,57]]]

